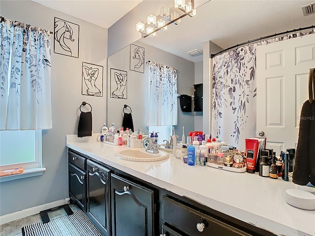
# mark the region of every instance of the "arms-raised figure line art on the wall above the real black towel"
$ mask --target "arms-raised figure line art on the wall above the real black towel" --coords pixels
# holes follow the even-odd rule
[[[82,95],[103,96],[103,66],[82,62]]]

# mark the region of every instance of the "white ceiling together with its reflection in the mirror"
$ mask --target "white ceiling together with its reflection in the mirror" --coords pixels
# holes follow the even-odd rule
[[[42,5],[109,28],[142,0],[34,0]],[[146,0],[147,1],[147,0]],[[201,2],[201,0],[200,0]],[[205,0],[202,1],[204,3]],[[191,61],[187,54],[212,42],[225,49],[254,38],[315,25],[315,14],[303,16],[301,7],[314,0],[211,0],[197,7],[197,15],[141,41]],[[157,3],[157,2],[155,2]],[[115,9],[115,10],[113,10]],[[139,16],[145,18],[146,16]]]

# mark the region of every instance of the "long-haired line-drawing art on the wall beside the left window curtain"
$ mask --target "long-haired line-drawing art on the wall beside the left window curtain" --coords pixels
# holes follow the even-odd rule
[[[54,53],[79,58],[79,25],[55,17]]]

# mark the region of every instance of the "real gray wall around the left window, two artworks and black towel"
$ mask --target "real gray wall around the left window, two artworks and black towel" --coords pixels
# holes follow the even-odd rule
[[[80,26],[79,58],[55,54],[51,47],[53,128],[42,136],[42,165],[47,170],[39,177],[0,183],[0,215],[4,215],[68,197],[65,135],[77,133],[82,101],[93,107],[94,133],[106,120],[107,29],[29,0],[1,0],[0,15],[51,31],[54,17]],[[81,95],[82,61],[104,67],[103,97]]]

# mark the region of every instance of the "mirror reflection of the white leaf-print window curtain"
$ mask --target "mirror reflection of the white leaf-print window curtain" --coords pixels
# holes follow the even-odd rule
[[[177,125],[177,69],[149,62],[147,125]]]

